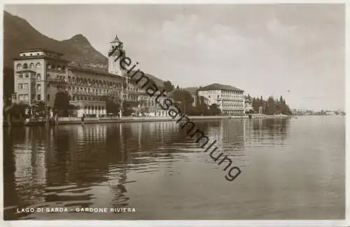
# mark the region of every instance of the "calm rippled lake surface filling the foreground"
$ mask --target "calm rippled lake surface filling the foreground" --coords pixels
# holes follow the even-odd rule
[[[173,122],[4,129],[5,219],[344,219],[345,118],[195,123],[241,168],[235,181]]]

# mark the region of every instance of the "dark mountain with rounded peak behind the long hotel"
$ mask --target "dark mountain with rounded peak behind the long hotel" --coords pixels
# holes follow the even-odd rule
[[[18,52],[31,48],[44,48],[62,53],[63,58],[71,62],[76,62],[81,66],[106,67],[108,59],[102,53],[93,48],[90,42],[82,34],[77,34],[71,39],[57,41],[38,32],[27,20],[3,12],[3,67],[8,73],[4,75],[4,93],[8,86],[13,84],[13,58],[18,56]],[[157,85],[164,83],[159,78],[147,74]],[[12,80],[12,81],[11,81]],[[6,86],[7,84],[7,86]],[[12,85],[13,90],[13,85]]]

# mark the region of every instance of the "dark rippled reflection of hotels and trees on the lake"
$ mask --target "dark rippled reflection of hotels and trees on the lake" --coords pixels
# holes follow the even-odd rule
[[[283,143],[289,126],[282,119],[195,124],[211,142],[217,140],[216,146],[225,154],[243,162],[246,146],[264,140]],[[102,197],[109,201],[104,206],[127,206],[131,196],[127,188],[135,181],[130,172],[132,176],[172,172],[174,162],[189,161],[189,152],[202,151],[196,138],[175,122],[7,128],[3,132],[7,218],[13,217],[17,207],[89,207]]]

